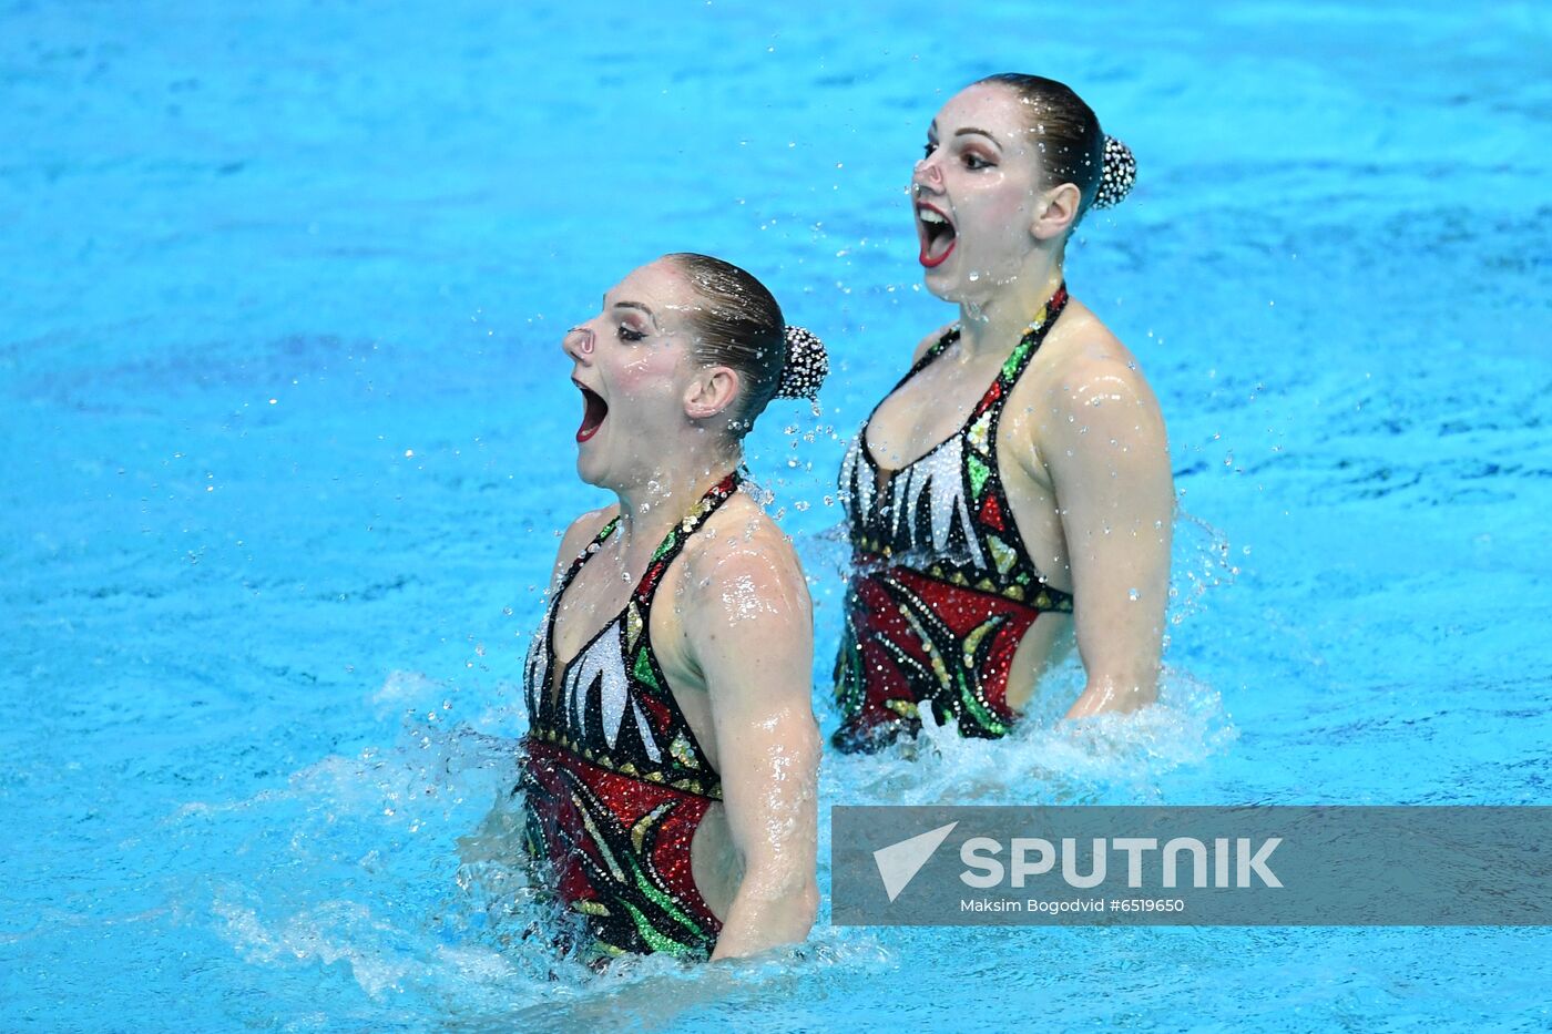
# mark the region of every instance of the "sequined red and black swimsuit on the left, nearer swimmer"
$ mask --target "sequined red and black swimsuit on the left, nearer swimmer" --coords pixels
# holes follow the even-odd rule
[[[610,520],[556,587],[525,672],[518,790],[529,852],[602,953],[706,956],[722,924],[691,873],[691,840],[722,782],[652,651],[652,601],[695,529],[739,486],[729,474],[652,554],[630,602],[551,678],[556,612]]]

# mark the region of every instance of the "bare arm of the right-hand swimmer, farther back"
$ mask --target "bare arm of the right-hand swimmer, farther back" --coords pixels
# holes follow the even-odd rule
[[[1136,370],[1079,360],[1040,432],[1072,571],[1086,683],[1066,717],[1135,711],[1158,696],[1175,484],[1164,418]]]

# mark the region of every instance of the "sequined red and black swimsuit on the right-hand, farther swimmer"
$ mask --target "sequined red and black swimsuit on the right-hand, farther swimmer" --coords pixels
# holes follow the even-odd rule
[[[1003,407],[1066,298],[1058,287],[947,441],[889,472],[869,453],[863,424],[847,452],[841,498],[854,574],[835,661],[840,750],[914,736],[925,706],[962,736],[1004,736],[1017,719],[1007,706],[1013,652],[1041,613],[1072,610],[1072,596],[1048,585],[1029,557],[996,464]],[[933,345],[896,391],[958,335]]]

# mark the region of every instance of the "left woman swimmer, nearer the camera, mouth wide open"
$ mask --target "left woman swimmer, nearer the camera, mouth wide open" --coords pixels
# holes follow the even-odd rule
[[[792,543],[743,491],[742,438],[813,397],[824,348],[742,269],[667,255],[563,349],[577,474],[525,669],[525,838],[594,958],[802,941],[815,882],[813,626]]]

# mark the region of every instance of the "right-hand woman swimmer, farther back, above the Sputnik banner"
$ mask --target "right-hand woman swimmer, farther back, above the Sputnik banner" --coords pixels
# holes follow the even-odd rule
[[[927,289],[959,306],[841,470],[852,540],[841,750],[1004,736],[1072,641],[1080,719],[1155,700],[1175,492],[1136,359],[1068,295],[1068,238],[1131,152],[1060,82],[996,75],[927,132],[911,197]]]

